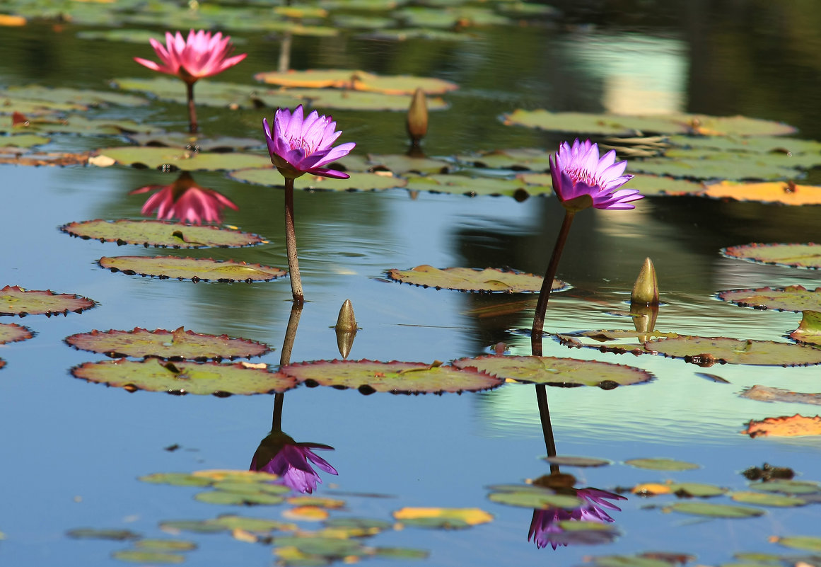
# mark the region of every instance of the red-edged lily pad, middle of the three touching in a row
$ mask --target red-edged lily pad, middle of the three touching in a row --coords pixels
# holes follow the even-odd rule
[[[478,392],[502,385],[502,380],[475,368],[461,370],[424,362],[316,361],[282,366],[280,372],[305,385],[355,388],[362,394],[443,394]]]

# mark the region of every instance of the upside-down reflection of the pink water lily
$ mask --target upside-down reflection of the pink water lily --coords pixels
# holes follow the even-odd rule
[[[171,185],[149,185],[131,191],[131,195],[159,189],[143,205],[142,214],[157,211],[158,219],[179,219],[192,224],[221,223],[222,210],[238,210],[226,196],[213,189],[200,187],[190,173],[183,172]]]

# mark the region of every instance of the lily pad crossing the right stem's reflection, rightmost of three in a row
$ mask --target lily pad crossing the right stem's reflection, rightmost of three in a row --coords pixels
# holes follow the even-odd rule
[[[551,386],[599,386],[612,390],[619,385],[640,384],[653,380],[648,371],[592,360],[557,357],[460,358],[452,362],[457,368],[475,368],[504,380]]]

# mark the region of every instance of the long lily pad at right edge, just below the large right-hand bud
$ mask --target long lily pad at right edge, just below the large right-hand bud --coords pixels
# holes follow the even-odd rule
[[[810,366],[821,364],[821,348],[768,340],[680,335],[644,343],[650,353],[683,358],[699,366],[750,364],[756,366]]]

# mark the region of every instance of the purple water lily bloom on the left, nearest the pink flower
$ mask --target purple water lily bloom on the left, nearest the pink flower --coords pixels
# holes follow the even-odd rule
[[[273,131],[268,127],[268,119],[263,118],[265,141],[271,163],[279,173],[288,179],[296,179],[304,173],[322,177],[347,179],[347,173],[323,166],[347,155],[354,149],[354,142],[337,145],[333,142],[342,134],[336,131],[337,122],[329,116],[319,116],[315,110],[303,118],[300,104],[291,113],[288,108],[279,108],[273,116]]]

